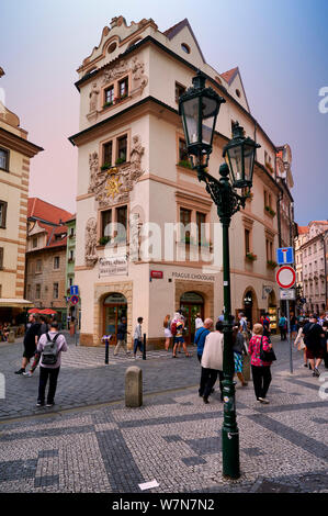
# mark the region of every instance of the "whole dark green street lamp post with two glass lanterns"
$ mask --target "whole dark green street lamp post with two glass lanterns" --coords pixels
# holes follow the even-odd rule
[[[252,139],[245,137],[244,128],[236,123],[233,127],[233,139],[224,147],[226,162],[219,167],[220,178],[216,179],[206,171],[210,154],[213,149],[215,123],[220,104],[225,99],[212,88],[205,88],[205,76],[197,71],[193,87],[179,99],[179,114],[185,135],[188,154],[192,169],[197,171],[200,181],[206,184],[217,207],[223,226],[223,283],[224,283],[224,363],[223,396],[224,423],[222,428],[223,474],[230,479],[240,476],[239,431],[236,418],[235,402],[235,362],[233,351],[233,317],[230,299],[229,263],[229,225],[233,215],[245,206],[247,195],[239,195],[236,189],[252,187],[253,164],[257,147]],[[229,178],[228,178],[229,176]],[[230,179],[230,181],[229,181]]]

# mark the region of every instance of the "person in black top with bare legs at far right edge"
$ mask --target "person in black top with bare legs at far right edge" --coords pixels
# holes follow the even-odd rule
[[[302,336],[306,346],[306,358],[308,359],[313,377],[319,377],[319,366],[325,352],[321,346],[323,337],[325,336],[321,326],[317,323],[315,315],[309,316],[309,322],[303,327]]]

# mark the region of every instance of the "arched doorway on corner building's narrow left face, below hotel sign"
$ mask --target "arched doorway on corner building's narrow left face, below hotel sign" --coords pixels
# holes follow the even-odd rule
[[[122,317],[127,318],[127,300],[123,294],[112,293],[103,302],[103,334],[112,335],[111,345],[116,346],[117,326]]]

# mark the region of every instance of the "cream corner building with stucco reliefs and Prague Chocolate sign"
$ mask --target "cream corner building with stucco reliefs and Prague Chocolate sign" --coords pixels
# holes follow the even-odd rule
[[[190,343],[196,313],[222,313],[220,223],[191,169],[178,112],[197,69],[226,100],[208,171],[218,176],[236,122],[261,145],[252,193],[230,227],[231,300],[251,324],[268,310],[276,324],[276,206],[285,197],[292,202],[284,189],[293,182],[291,172],[285,184],[278,180],[279,148],[250,113],[239,68],[218,72],[206,64],[186,19],[162,33],[151,19],[127,25],[118,16],[78,69],[79,132],[69,138],[79,156],[81,345],[100,345],[126,315],[128,332],[142,316],[148,346],[161,346],[163,318],[179,309]]]

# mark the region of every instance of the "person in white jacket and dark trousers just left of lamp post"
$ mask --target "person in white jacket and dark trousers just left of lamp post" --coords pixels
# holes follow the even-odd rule
[[[223,323],[218,321],[215,325],[215,332],[207,334],[205,338],[204,350],[202,355],[202,373],[199,394],[204,403],[208,402],[208,396],[214,391],[214,385],[219,377],[220,401],[223,401]]]

